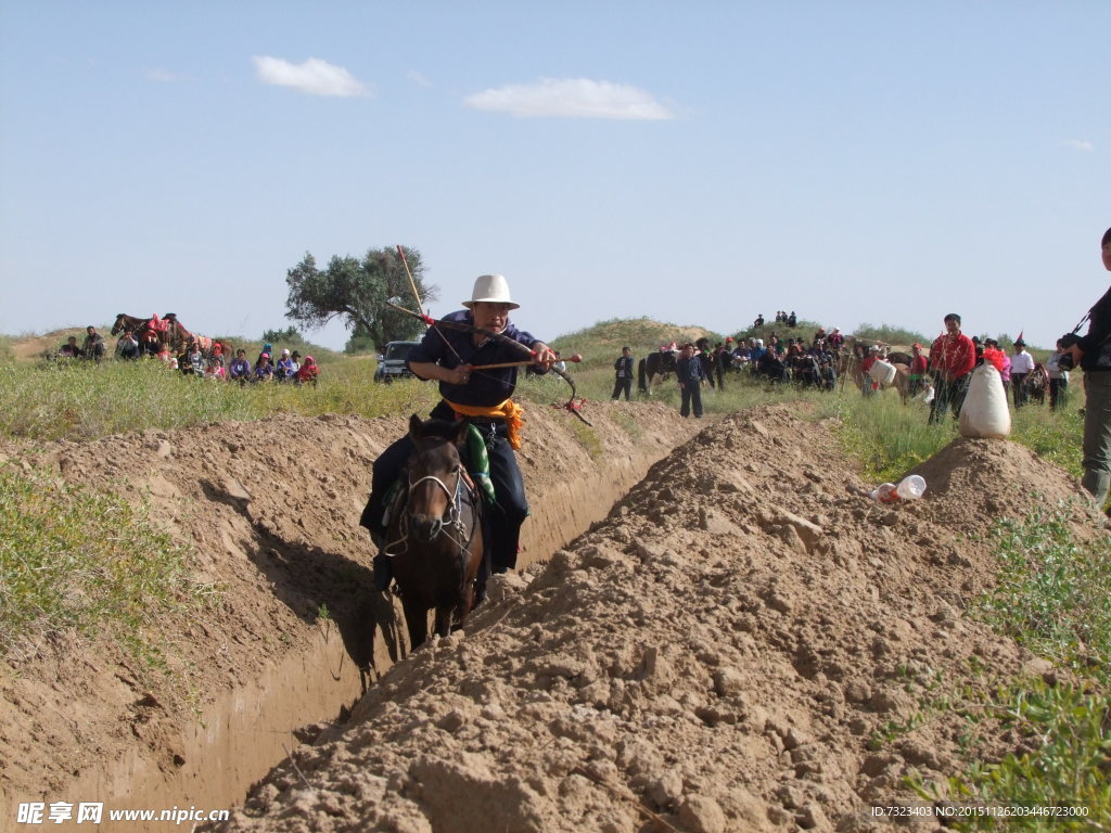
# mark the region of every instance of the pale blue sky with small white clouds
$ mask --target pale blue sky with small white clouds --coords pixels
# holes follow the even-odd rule
[[[434,315],[498,272],[547,340],[958,312],[1051,347],[1109,225],[1108,0],[0,0],[10,335],[257,339],[307,252],[400,243]]]

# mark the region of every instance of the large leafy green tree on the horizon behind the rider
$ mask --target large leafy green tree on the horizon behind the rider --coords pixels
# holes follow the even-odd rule
[[[434,301],[438,288],[424,283],[420,252],[406,247],[402,250],[421,300],[426,304]],[[379,352],[391,341],[417,339],[423,331],[423,324],[387,303],[417,309],[397,249],[371,249],[362,260],[333,255],[323,271],[317,269],[316,258],[306,252],[301,262],[286,272],[286,284],[289,287],[287,318],[309,329],[323,327],[339,315],[348,329],[369,335]]]

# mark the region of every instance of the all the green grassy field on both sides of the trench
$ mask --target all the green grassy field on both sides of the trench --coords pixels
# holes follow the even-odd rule
[[[672,338],[714,333],[648,320],[607,321],[556,341],[564,354],[581,353],[571,365],[578,395],[608,400],[612,363],[623,344],[643,355]],[[436,402],[431,384],[371,381],[374,362],[326,355],[318,387],[248,385],[196,380],[158,364],[104,362],[53,365],[12,360],[12,340],[0,338],[0,433],[32,441],[92,440],[143,429],[182,429],[274,413],[427,413]],[[1011,439],[1080,474],[1083,405],[1073,384],[1067,409],[1027,408],[1012,414]],[[522,378],[522,399],[563,402],[570,388],[559,378]],[[674,380],[659,385],[654,399],[678,410]],[[893,481],[957,436],[955,424],[927,424],[921,403],[898,397],[862,398],[851,385],[835,392],[769,388],[747,378],[727,378],[724,391],[703,394],[709,413],[732,413],[767,402],[803,402],[813,419],[833,419],[842,446],[859,460],[865,479]],[[635,435],[634,421],[623,428]],[[597,445],[591,429],[572,423],[577,440]],[[0,652],[9,663],[32,654],[43,640],[109,633],[157,672],[162,644],[148,616],[189,610],[218,596],[218,588],[189,580],[191,554],[174,546],[111,486],[101,491],[59,483],[46,471],[0,464]],[[128,549],[118,541],[121,523],[136,530]],[[970,725],[990,715],[1024,737],[1040,739],[1032,751],[978,764],[947,784],[912,782],[923,795],[981,801],[1083,803],[1081,822],[1027,819],[1023,830],[1111,829],[1111,549],[1080,545],[1053,510],[1024,523],[1001,522],[994,532],[999,553],[995,588],[974,601],[967,615],[988,622],[1025,644],[1062,671],[1054,685],[1014,680],[1003,689],[964,690],[945,707],[965,714]],[[78,562],[74,553],[81,553]],[[127,569],[124,569],[127,566]],[[923,695],[924,696],[924,695]],[[931,702],[937,702],[934,695]],[[970,729],[970,732],[974,732]],[[970,735],[971,736],[971,735]],[[1093,826],[1097,824],[1103,825]],[[983,826],[989,826],[987,823]]]

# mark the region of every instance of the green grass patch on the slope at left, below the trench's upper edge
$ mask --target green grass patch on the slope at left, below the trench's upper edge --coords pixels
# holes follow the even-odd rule
[[[0,468],[0,653],[33,655],[77,634],[112,638],[142,666],[164,665],[164,619],[217,593],[189,578],[191,551],[147,508],[47,471]]]

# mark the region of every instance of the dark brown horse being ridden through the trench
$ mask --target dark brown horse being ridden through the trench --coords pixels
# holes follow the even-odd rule
[[[428,612],[447,636],[452,619],[461,625],[474,606],[474,580],[482,564],[482,499],[460,456],[466,422],[413,414],[413,451],[391,502],[386,552],[406,612],[410,650],[428,639]]]

